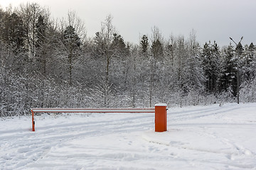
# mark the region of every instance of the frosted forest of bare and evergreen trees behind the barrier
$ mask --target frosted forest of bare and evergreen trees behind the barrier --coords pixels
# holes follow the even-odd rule
[[[100,23],[99,23],[100,24]],[[74,12],[53,20],[38,4],[0,9],[0,116],[32,107],[152,107],[256,101],[255,45],[166,40],[154,27],[125,42],[112,16],[95,36]],[[239,88],[238,88],[239,87]]]

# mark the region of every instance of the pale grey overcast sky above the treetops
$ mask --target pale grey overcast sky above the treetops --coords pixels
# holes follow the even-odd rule
[[[1,0],[5,8],[18,6],[25,0]],[[107,15],[113,16],[113,25],[125,41],[139,43],[143,34],[151,36],[154,26],[165,39],[184,35],[192,29],[197,40],[216,40],[218,45],[228,45],[229,37],[242,44],[256,45],[255,0],[34,0],[50,8],[54,18],[67,16],[72,10],[84,21],[87,35],[92,38],[100,30],[100,23]]]

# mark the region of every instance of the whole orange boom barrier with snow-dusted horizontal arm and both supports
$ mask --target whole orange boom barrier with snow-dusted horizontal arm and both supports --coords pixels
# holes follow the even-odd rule
[[[162,105],[160,104],[161,108]],[[159,116],[156,115],[164,115],[166,116],[166,105],[164,105],[164,109],[159,110],[159,104],[156,104],[155,108],[31,108],[32,113],[32,131],[35,131],[35,120],[34,114],[35,113],[155,113],[155,117],[158,118]],[[165,113],[159,113],[165,111]],[[164,123],[165,121],[165,123]],[[155,127],[159,127],[159,124],[164,128],[161,128],[158,131],[156,128],[156,132],[163,132],[166,131],[166,118],[159,121],[159,119],[155,120]],[[157,126],[158,125],[158,126]]]

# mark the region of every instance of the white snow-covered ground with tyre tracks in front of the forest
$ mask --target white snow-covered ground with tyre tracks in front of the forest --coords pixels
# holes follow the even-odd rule
[[[256,169],[256,103],[0,119],[0,169]]]

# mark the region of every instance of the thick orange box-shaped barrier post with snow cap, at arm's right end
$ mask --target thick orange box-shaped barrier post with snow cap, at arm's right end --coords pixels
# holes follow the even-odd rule
[[[155,105],[155,132],[167,130],[167,105],[158,103]]]

